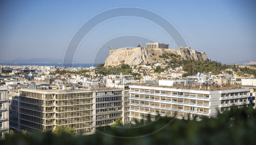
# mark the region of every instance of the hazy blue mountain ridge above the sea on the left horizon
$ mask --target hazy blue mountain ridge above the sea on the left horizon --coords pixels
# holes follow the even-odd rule
[[[60,63],[60,58],[16,58],[9,60],[0,60],[0,63]]]

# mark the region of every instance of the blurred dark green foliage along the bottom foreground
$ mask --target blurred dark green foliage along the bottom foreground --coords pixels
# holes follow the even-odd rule
[[[256,110],[232,108],[216,118],[179,120],[161,117],[131,128],[111,127],[93,135],[62,132],[8,134],[0,144],[255,144]],[[142,125],[142,126],[140,126]]]

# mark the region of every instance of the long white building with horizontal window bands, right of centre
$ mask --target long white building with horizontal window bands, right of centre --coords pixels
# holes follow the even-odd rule
[[[177,118],[214,117],[219,111],[231,106],[248,106],[249,89],[218,88],[199,90],[196,88],[176,88],[171,86],[131,85],[130,120],[152,119],[156,115],[176,116]]]

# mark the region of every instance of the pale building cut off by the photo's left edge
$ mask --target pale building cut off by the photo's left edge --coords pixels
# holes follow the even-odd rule
[[[5,133],[9,133],[9,106],[8,88],[0,86],[0,139],[5,138]]]

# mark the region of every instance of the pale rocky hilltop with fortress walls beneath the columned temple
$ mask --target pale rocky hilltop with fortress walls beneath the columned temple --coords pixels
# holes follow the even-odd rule
[[[141,65],[147,62],[161,63],[172,58],[161,58],[159,56],[170,53],[180,55],[182,59],[208,60],[204,52],[190,50],[190,47],[179,47],[179,50],[136,47],[133,49],[110,50],[110,55],[105,60],[105,66],[119,65],[121,63],[129,65]]]

